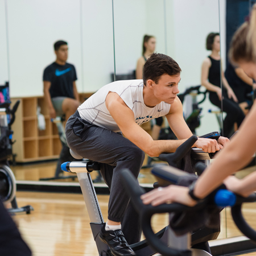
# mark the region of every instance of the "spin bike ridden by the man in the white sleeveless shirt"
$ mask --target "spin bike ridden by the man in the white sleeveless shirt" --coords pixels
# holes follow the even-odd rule
[[[176,164],[178,160],[183,158],[185,154],[191,149],[192,145],[197,141],[197,137],[193,135],[186,142],[181,144],[176,150],[175,153],[172,154],[161,154],[159,157],[163,160],[166,160],[169,164]],[[102,226],[104,226],[104,219],[102,217],[100,205],[98,204],[97,195],[92,183],[92,179],[90,177],[90,172],[93,170],[100,170],[100,163],[92,162],[88,159],[81,160],[82,157],[75,154],[71,151],[71,154],[74,158],[80,159],[80,161],[75,162],[65,162],[61,164],[61,169],[67,172],[76,172],[77,177],[79,179],[82,195],[85,200],[86,208],[88,210],[89,218],[90,218],[90,227],[92,229],[93,238],[96,242],[97,249],[99,255],[111,255],[109,254],[108,245],[100,240],[98,234],[101,231]],[[198,148],[193,150],[191,155],[193,158],[197,160],[206,160],[209,161],[212,156],[209,156],[208,153],[205,153]],[[161,241],[167,242],[168,240],[168,227],[163,228],[156,236],[160,238]],[[210,251],[208,241],[215,240],[220,233],[220,226],[218,228],[209,229],[209,228],[201,228],[196,230],[196,232],[192,233],[191,236],[191,245],[197,249],[203,249],[205,251]],[[149,246],[147,240],[135,243],[134,245],[130,245],[134,250],[135,254],[138,256],[151,256],[157,253],[158,251],[152,249]]]

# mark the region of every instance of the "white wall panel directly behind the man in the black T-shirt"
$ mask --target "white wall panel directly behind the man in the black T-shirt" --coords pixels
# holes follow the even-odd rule
[[[43,69],[55,60],[53,43],[67,40],[69,63],[81,74],[79,0],[8,3],[11,97],[43,95]],[[77,82],[81,90],[81,79]]]

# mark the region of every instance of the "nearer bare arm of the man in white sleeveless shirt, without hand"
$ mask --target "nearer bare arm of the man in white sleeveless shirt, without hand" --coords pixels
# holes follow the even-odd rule
[[[159,156],[163,152],[175,152],[186,139],[179,141],[153,141],[152,137],[134,121],[133,111],[117,93],[106,97],[106,108],[127,139],[141,148],[149,156]]]

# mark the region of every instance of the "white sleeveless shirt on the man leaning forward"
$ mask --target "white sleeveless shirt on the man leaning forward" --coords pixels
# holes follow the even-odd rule
[[[106,108],[106,96],[109,92],[117,93],[125,104],[133,110],[134,121],[138,125],[146,123],[151,119],[162,117],[170,112],[171,104],[161,102],[154,108],[148,108],[143,100],[143,80],[122,80],[115,81],[103,86],[94,93],[77,109],[80,117],[93,125],[112,130],[120,131],[109,110]]]

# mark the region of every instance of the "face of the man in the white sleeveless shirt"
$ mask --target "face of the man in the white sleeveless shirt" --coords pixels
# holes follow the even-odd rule
[[[158,80],[158,84],[152,81],[154,83],[154,96],[158,98],[158,100],[168,104],[174,103],[177,94],[180,92],[178,89],[179,81],[180,74],[174,76],[167,74],[162,75]]]

